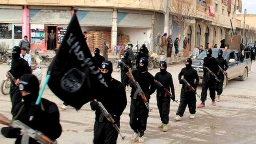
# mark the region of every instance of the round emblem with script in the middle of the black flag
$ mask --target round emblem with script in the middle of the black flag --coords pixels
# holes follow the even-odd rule
[[[76,92],[82,87],[85,76],[85,73],[81,70],[72,68],[61,78],[61,88],[70,93]]]

